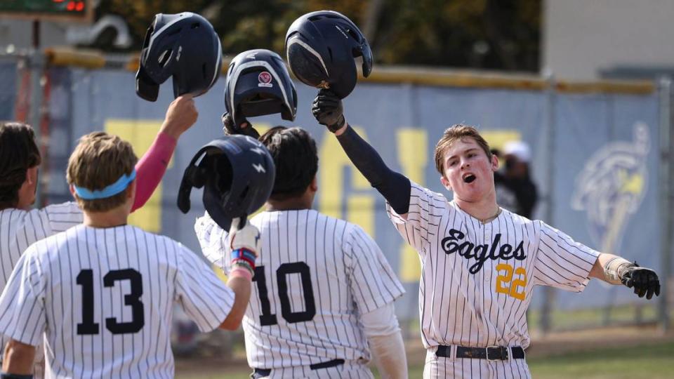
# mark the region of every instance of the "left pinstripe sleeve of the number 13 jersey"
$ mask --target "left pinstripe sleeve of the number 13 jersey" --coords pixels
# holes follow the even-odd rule
[[[32,346],[42,342],[46,326],[42,274],[32,245],[21,255],[0,296],[0,333]]]

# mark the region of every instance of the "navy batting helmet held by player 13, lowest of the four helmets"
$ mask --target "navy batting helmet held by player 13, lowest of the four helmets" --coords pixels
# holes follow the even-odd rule
[[[199,149],[180,182],[178,208],[190,211],[192,187],[204,187],[204,208],[224,230],[232,219],[242,221],[265,204],[276,169],[271,154],[247,135],[227,135]]]

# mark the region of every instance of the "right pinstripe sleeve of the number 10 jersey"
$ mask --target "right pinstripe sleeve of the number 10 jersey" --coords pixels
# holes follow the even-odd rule
[[[376,242],[352,226],[347,248],[351,293],[361,314],[383,307],[405,293]]]

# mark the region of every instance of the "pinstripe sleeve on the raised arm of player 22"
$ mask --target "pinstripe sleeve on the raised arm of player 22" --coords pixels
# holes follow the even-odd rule
[[[395,213],[388,202],[386,211],[402,238],[421,254],[423,246],[428,244],[428,230],[437,226],[437,222],[433,220],[438,218],[437,215],[441,214],[443,208],[447,207],[447,199],[442,194],[425,189],[415,182],[410,182],[410,185],[409,211],[406,218]]]

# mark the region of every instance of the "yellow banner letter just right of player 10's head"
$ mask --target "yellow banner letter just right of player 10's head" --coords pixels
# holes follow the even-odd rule
[[[353,127],[353,126],[352,126]],[[362,128],[353,127],[367,140]],[[342,205],[345,193],[344,168],[351,171],[352,189],[371,189],[369,182],[353,166],[335,136],[325,131],[323,145],[319,151],[319,211],[335,218],[343,218]],[[353,222],[374,238],[374,197],[372,194],[352,194],[348,197],[346,220]]]

